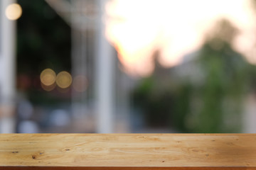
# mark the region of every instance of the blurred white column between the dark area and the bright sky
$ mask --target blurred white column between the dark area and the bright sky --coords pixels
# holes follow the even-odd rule
[[[95,63],[96,72],[96,93],[97,93],[97,132],[113,132],[114,115],[114,56],[110,44],[105,38],[105,23],[102,18],[105,16],[105,3],[107,0],[98,0],[100,14],[97,27],[97,60]]]

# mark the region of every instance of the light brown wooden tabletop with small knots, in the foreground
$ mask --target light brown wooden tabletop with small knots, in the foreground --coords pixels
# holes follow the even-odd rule
[[[256,134],[0,134],[0,169],[256,169]]]

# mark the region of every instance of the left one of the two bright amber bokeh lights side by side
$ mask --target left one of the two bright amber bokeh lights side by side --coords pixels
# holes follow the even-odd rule
[[[44,69],[40,74],[41,84],[51,86],[55,83],[56,74],[53,69]]]

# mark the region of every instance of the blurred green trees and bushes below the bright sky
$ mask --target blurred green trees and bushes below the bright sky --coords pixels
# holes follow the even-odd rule
[[[156,67],[134,89],[134,107],[145,114],[148,126],[177,132],[240,132],[243,101],[253,91],[256,69],[230,47],[235,28],[228,21],[220,21],[214,31],[193,61],[177,66],[196,65],[199,74],[191,69],[181,77],[172,68],[163,77]]]

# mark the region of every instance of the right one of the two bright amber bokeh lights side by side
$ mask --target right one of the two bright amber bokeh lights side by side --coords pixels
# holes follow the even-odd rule
[[[60,72],[56,77],[56,84],[62,88],[66,89],[72,84],[72,77],[68,72]]]

